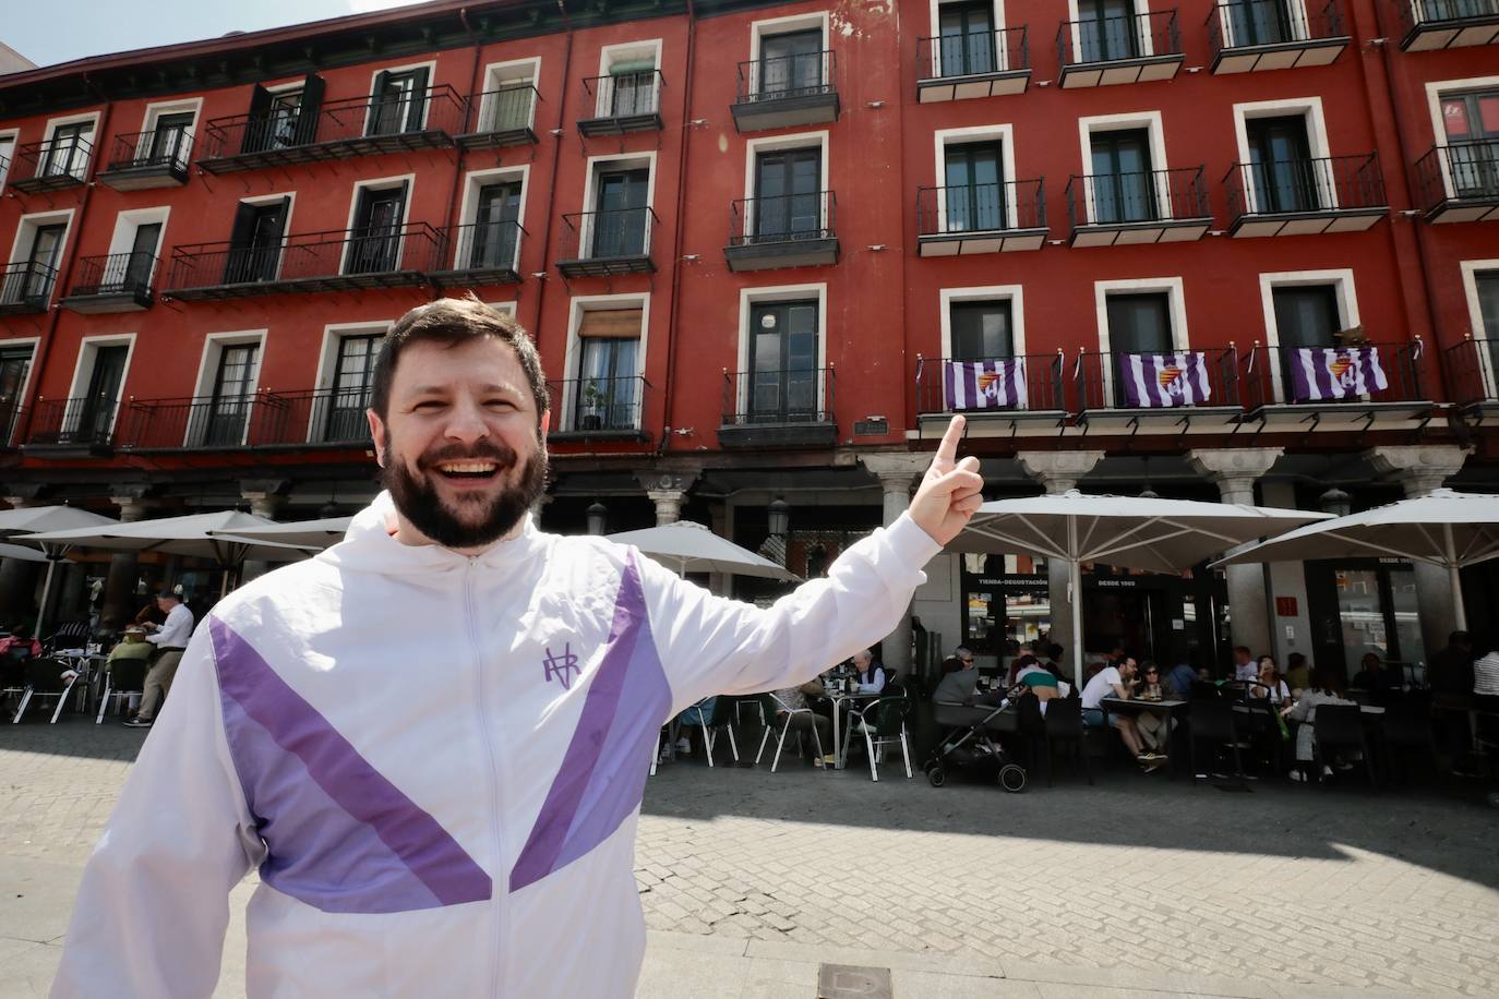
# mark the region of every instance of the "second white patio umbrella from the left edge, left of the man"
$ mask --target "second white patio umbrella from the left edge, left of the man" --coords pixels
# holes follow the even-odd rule
[[[223,592],[226,593],[229,589],[228,572],[238,574],[246,559],[292,562],[307,557],[309,548],[304,545],[217,536],[217,532],[229,533],[274,526],[273,520],[226,509],[160,520],[111,521],[108,526],[24,535],[16,541],[37,545],[66,544],[103,551],[163,551],[211,559],[220,569],[226,571],[223,578]]]

